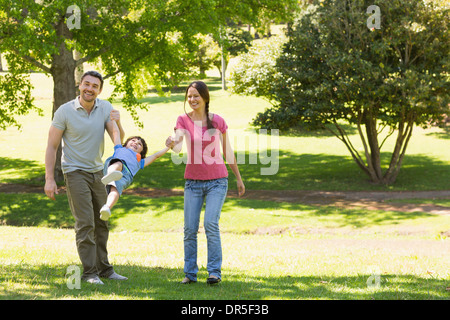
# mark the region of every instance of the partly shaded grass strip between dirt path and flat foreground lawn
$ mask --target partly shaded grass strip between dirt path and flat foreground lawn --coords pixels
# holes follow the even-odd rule
[[[120,219],[133,216],[134,227],[146,230],[143,223],[150,224],[153,230],[165,223],[167,228],[176,222],[167,222],[173,212],[178,210],[182,220],[184,199],[182,196],[144,198],[123,195],[116,204],[109,220],[110,229],[114,230]],[[271,212],[271,210],[274,212]],[[288,214],[276,210],[285,210]],[[238,210],[239,219],[246,223],[233,224],[233,214]],[[148,213],[150,212],[150,213]],[[438,217],[425,212],[403,213],[391,211],[370,211],[364,209],[343,209],[333,206],[313,206],[298,203],[273,202],[250,199],[227,199],[222,209],[222,230],[227,232],[251,233],[257,228],[273,226],[301,228],[308,219],[321,219],[323,223],[335,228],[352,226],[369,228],[374,226],[395,225],[405,220]],[[143,213],[148,213],[141,215]],[[225,215],[226,214],[226,215]],[[57,196],[56,201],[49,200],[43,194],[2,194],[0,193],[0,223],[10,226],[35,226],[49,228],[72,228],[74,218],[71,214],[66,195]],[[153,228],[153,229],[152,229]],[[158,229],[160,230],[160,229]],[[161,229],[164,231],[165,229]]]

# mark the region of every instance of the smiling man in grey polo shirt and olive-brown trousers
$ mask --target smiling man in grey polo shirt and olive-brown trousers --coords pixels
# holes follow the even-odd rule
[[[54,178],[56,151],[62,139],[62,171],[70,209],[75,218],[78,255],[83,265],[82,279],[103,284],[99,277],[127,280],[118,275],[108,261],[106,244],[108,224],[100,219],[106,202],[103,177],[104,132],[114,141],[122,140],[124,132],[118,112],[104,100],[97,99],[103,78],[95,71],[86,72],[79,85],[80,95],[56,110],[50,126],[45,153],[45,193],[55,200],[58,194]],[[112,121],[111,118],[116,119]],[[119,123],[119,127],[117,125]]]

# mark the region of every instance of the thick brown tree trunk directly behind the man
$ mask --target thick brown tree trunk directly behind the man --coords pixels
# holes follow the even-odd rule
[[[52,119],[55,111],[58,108],[75,99],[75,60],[72,51],[69,51],[65,45],[64,39],[70,38],[70,31],[67,28],[64,21],[56,26],[56,33],[61,43],[59,44],[59,52],[53,55],[52,66],[50,73],[53,77],[53,112]],[[61,169],[61,144],[58,148],[55,163],[55,180],[56,182],[64,181],[64,176]]]

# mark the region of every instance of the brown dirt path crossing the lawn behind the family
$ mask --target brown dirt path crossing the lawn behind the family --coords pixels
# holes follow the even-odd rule
[[[22,184],[0,184],[0,193],[44,193],[42,186]],[[60,194],[65,188],[60,188]],[[170,197],[183,195],[182,189],[127,189],[124,194],[142,197]],[[237,198],[235,190],[228,192],[229,198]],[[427,212],[450,215],[450,207],[433,204],[407,203],[405,199],[450,199],[450,190],[441,191],[303,191],[303,190],[246,190],[243,199],[276,202],[303,203],[308,205],[331,205],[345,208],[365,208],[401,212]],[[396,200],[402,202],[396,202]]]

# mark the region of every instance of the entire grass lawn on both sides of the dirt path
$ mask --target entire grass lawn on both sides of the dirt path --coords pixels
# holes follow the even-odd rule
[[[44,152],[51,119],[51,79],[33,74],[34,96],[44,117],[21,119],[21,131],[0,135],[0,183],[43,186]],[[372,185],[344,145],[324,133],[279,137],[276,175],[259,158],[270,139],[249,126],[269,104],[229,95],[209,78],[211,111],[227,120],[235,150],[245,155],[240,170],[247,189],[275,190],[448,190],[450,139],[442,129],[416,128],[395,185]],[[111,87],[106,84],[103,98]],[[149,152],[160,150],[183,111],[183,93],[150,93],[149,111],[138,111],[138,128],[121,107],[127,136],[141,135]],[[356,136],[353,136],[356,139]],[[253,143],[251,143],[253,141]],[[106,140],[104,158],[112,152]],[[273,142],[273,141],[272,141]],[[384,161],[392,140],[382,150]],[[355,140],[355,144],[356,140]],[[256,159],[256,163],[250,163]],[[182,188],[183,165],[168,153],[138,173],[131,186]],[[230,189],[235,189],[231,175]],[[447,199],[432,201],[448,206]],[[227,199],[221,230],[223,282],[207,286],[206,241],[199,234],[199,282],[182,286],[183,198],[123,195],[110,219],[109,256],[126,282],[98,287],[67,286],[67,268],[80,266],[74,224],[65,195],[0,193],[0,299],[176,299],[176,300],[448,300],[448,215],[369,211],[250,199]],[[377,276],[379,286],[368,285]]]

